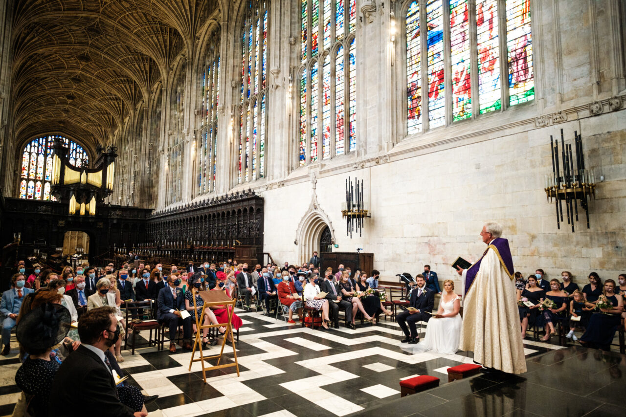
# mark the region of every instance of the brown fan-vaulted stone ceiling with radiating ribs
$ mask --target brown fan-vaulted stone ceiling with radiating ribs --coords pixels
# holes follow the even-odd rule
[[[106,143],[219,9],[218,0],[15,0],[14,136],[60,130]]]

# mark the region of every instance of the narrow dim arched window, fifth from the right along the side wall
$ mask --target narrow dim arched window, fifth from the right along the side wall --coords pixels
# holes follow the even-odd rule
[[[178,202],[183,197],[183,161],[185,160],[185,140],[183,138],[183,120],[185,116],[185,78],[187,75],[187,62],[182,61],[178,65],[176,75],[173,78],[172,91],[170,94],[170,131],[168,138],[168,161],[166,169],[168,173],[167,204]],[[170,133],[168,131],[168,134]]]

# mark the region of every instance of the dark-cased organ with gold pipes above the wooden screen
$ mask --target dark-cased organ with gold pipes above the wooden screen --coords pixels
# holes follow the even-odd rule
[[[96,203],[113,192],[117,148],[110,146],[96,161],[97,168],[77,168],[68,161],[68,149],[59,138],[53,144],[52,194],[69,203],[69,214],[95,215]]]

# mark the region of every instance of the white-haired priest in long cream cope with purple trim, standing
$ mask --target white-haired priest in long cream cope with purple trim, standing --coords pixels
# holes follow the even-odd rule
[[[487,249],[467,270],[458,269],[464,287],[460,349],[474,352],[474,361],[506,373],[526,372],[520,337],[513,260],[502,226],[485,224],[480,233]]]

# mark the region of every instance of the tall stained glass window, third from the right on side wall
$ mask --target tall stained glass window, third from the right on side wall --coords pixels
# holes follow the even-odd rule
[[[238,182],[265,176],[269,0],[249,0],[242,39]]]

